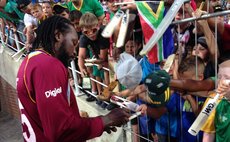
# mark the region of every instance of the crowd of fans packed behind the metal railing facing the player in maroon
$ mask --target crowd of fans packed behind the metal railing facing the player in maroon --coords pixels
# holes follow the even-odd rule
[[[139,55],[145,43],[135,4],[120,6],[115,5],[116,2],[118,1],[44,0],[32,3],[29,0],[1,0],[0,26],[3,41],[6,41],[7,36],[18,34],[16,30],[21,31],[24,35],[19,34],[19,40],[25,43],[29,53],[39,24],[53,15],[69,19],[78,36],[76,63],[81,72],[81,75],[78,76],[78,83],[84,86],[86,83],[84,81],[90,77],[108,86],[104,87],[91,81],[90,91],[94,96],[88,95],[86,101],[96,101],[100,107],[108,110],[118,107],[110,103],[111,95],[118,95],[136,102],[140,105],[137,111],[141,111],[143,115],[132,120],[132,129],[135,133],[152,141],[198,142],[203,140],[212,142],[216,140],[229,142],[229,84],[226,85],[223,81],[230,79],[228,72],[230,71],[228,44],[230,20],[228,15],[170,25],[174,40],[174,51],[171,54],[175,54],[175,58],[173,58],[169,72],[166,73],[163,71],[165,60],[150,63],[148,56]],[[170,8],[172,2],[167,1],[166,10]],[[197,7],[201,2],[195,2]],[[229,5],[230,3],[226,1],[211,0],[206,2],[202,10],[191,7],[190,3],[185,3],[175,16],[175,21],[225,11],[228,10]],[[116,27],[110,38],[103,37],[101,33],[117,11],[127,8],[130,9],[130,15],[133,16],[129,20],[131,28],[128,29],[125,45],[117,48],[115,43],[119,26]],[[217,34],[215,26],[217,26]],[[13,32],[10,32],[10,29],[13,29]],[[16,46],[12,40],[8,40],[8,44]],[[128,85],[123,84],[118,78],[119,75],[116,74],[119,58],[123,53],[132,55],[139,61],[142,68],[142,80],[135,88],[127,87]],[[103,68],[108,68],[110,71]],[[216,74],[217,70],[219,70],[218,74]],[[133,74],[127,80],[132,80],[135,76],[136,74]],[[162,76],[168,78],[167,81],[162,80],[167,89],[157,92],[157,87],[153,87],[156,86],[156,82],[148,85],[148,80],[159,81]],[[71,78],[71,74],[69,77]],[[116,82],[117,79],[120,83]],[[205,124],[197,137],[192,136],[188,133],[188,129],[207,101],[206,99],[210,94],[214,94],[214,91],[219,91],[223,96],[213,118],[208,121],[211,124]],[[151,97],[151,92],[163,96],[158,100],[159,103],[154,103],[157,98]],[[168,99],[166,99],[167,95],[170,96]],[[98,97],[95,98],[95,96]],[[133,141],[147,140],[133,134]]]

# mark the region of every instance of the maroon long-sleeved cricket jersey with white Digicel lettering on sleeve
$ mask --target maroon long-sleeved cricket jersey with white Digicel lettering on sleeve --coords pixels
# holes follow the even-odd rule
[[[25,141],[81,142],[103,133],[101,117],[80,117],[68,85],[67,69],[57,58],[42,51],[25,58],[17,76]]]

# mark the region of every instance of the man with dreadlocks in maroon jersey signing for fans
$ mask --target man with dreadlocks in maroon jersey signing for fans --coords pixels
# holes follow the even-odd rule
[[[68,83],[67,65],[78,42],[69,20],[50,17],[39,25],[36,35],[17,76],[25,141],[82,142],[128,121],[129,115],[120,108],[105,116],[80,117]]]

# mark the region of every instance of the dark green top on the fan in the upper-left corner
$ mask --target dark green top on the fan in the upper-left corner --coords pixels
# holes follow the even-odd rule
[[[20,20],[24,19],[24,13],[21,12],[18,8],[18,4],[14,1],[8,1],[4,7],[4,11],[7,13],[13,13],[15,12]]]

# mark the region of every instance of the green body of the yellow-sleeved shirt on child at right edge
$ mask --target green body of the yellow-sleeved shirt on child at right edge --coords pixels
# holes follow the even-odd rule
[[[216,142],[230,142],[230,102],[222,99],[216,108]]]

